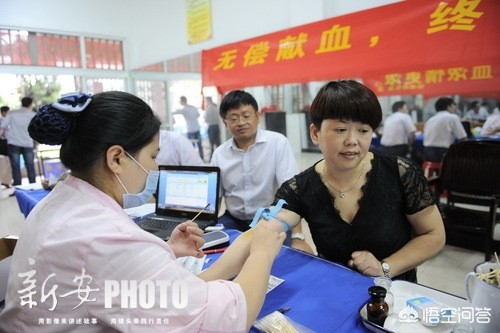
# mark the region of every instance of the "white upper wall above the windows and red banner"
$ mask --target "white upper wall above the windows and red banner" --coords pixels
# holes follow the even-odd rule
[[[0,26],[123,38],[129,69],[397,0],[212,0],[213,38],[187,43],[184,0],[0,0]]]

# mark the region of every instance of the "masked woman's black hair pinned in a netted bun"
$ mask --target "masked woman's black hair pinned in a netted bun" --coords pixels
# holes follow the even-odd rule
[[[59,112],[50,105],[43,108],[46,107],[51,108],[49,113]],[[61,162],[72,172],[88,177],[91,177],[92,168],[109,147],[120,145],[135,155],[153,140],[161,124],[143,100],[121,91],[95,94],[83,111],[61,113],[65,114],[64,117],[47,120],[35,116],[29,126],[30,135],[40,143],[56,144],[58,142],[54,142],[54,135],[50,133],[53,129],[60,137],[59,143],[62,143]],[[61,126],[68,121],[69,126]],[[61,127],[68,130],[63,131]]]

